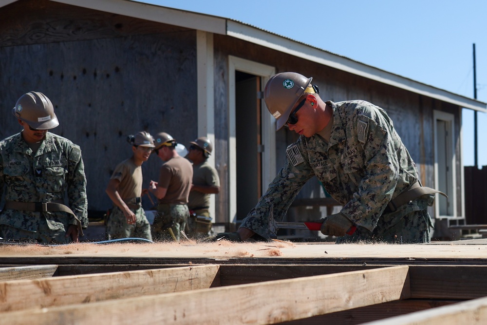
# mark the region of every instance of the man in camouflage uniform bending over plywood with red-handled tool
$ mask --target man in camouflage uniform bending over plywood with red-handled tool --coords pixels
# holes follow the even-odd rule
[[[269,212],[281,221],[313,176],[342,206],[325,218],[321,232],[337,242],[430,242],[427,207],[433,193],[418,183],[418,172],[386,112],[363,100],[324,102],[312,78],[297,73],[271,77],[264,99],[277,119],[300,134],[287,150],[284,167],[235,233],[218,238],[269,238]],[[351,232],[356,226],[356,231]]]

